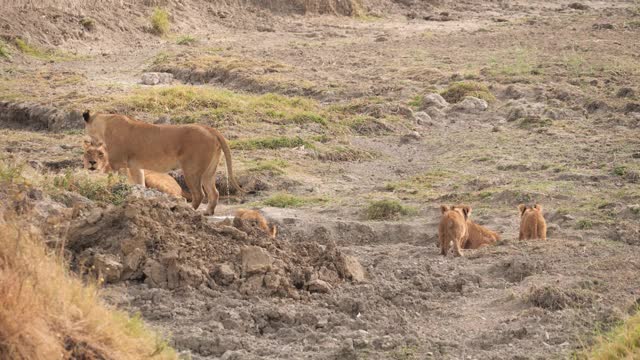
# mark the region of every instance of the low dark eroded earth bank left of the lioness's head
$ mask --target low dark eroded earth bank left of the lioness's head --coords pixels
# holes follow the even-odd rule
[[[0,128],[61,131],[84,126],[79,112],[28,103],[0,102]]]

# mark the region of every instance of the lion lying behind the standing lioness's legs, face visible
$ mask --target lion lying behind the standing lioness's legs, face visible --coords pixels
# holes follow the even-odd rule
[[[84,162],[85,169],[91,171],[97,170],[103,173],[113,171],[109,165],[109,157],[104,148],[104,144],[85,141],[84,156],[82,160]],[[173,197],[184,197],[185,199],[188,199],[189,194],[184,193],[175,179],[168,174],[162,174],[155,171],[145,171],[144,180],[145,185],[148,188],[156,189]]]

